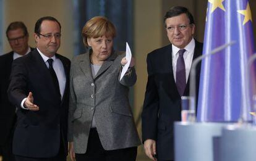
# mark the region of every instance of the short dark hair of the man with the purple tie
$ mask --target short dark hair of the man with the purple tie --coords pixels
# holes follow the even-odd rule
[[[189,24],[194,24],[194,18],[193,15],[189,12],[189,9],[186,7],[182,6],[174,6],[169,9],[166,14],[164,15],[164,27],[166,27],[166,19],[181,15],[181,14],[186,14],[187,18],[189,19]]]

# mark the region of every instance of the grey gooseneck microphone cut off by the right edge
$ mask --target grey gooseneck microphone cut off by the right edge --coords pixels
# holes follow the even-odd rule
[[[245,102],[245,105],[242,105],[242,109],[241,109],[241,115],[240,115],[240,122],[247,122],[248,121],[248,118],[247,118],[247,108],[246,107],[250,107],[250,67],[252,66],[252,63],[254,62],[254,60],[256,59],[256,52],[254,54],[252,54],[252,56],[249,57],[249,60],[248,60],[248,64],[247,64],[247,71],[245,73],[245,82],[247,84],[247,86],[245,87],[245,97],[248,98]],[[250,112],[250,114],[253,115],[253,117],[255,117],[255,110],[256,110],[256,96],[254,95],[253,96],[253,102],[254,102],[254,105],[252,106],[253,107],[253,112]],[[253,119],[253,123],[255,124],[255,119]]]

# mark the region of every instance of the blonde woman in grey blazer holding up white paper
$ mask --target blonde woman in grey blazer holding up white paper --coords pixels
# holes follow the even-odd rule
[[[129,105],[137,76],[132,59],[120,81],[125,53],[113,50],[116,29],[93,17],[82,30],[89,52],[74,57],[70,69],[69,152],[72,160],[135,160],[140,139]]]

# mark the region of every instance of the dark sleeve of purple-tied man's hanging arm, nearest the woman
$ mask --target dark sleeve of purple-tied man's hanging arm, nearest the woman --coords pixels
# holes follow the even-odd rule
[[[150,54],[147,57],[148,82],[142,111],[142,141],[153,139],[156,141],[159,98],[155,84],[155,75],[151,65]]]

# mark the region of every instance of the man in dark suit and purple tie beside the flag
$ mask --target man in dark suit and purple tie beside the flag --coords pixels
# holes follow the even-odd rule
[[[202,43],[193,35],[192,14],[172,7],[164,16],[171,44],[147,56],[148,83],[142,112],[142,139],[152,160],[174,160],[173,123],[181,120],[181,96],[189,94],[192,60],[202,54]],[[197,73],[199,74],[200,67]],[[197,75],[197,84],[199,75]]]

